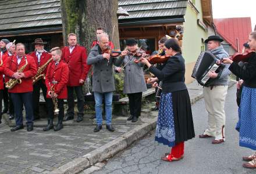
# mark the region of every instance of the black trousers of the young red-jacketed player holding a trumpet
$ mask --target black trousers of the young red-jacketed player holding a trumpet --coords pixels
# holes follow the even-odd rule
[[[48,119],[54,119],[54,102],[52,102],[52,99],[46,99],[47,100],[47,110],[48,110]],[[58,99],[58,108],[59,108],[59,119],[60,121],[63,120],[64,117],[64,100]]]

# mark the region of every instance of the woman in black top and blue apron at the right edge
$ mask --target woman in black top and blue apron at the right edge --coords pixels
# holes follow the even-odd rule
[[[229,58],[223,58],[223,63],[229,63],[229,70],[243,79],[243,90],[239,106],[239,122],[236,129],[239,131],[239,145],[256,150],[256,31],[249,35],[248,44],[254,52],[248,58],[246,68]],[[256,154],[243,157],[245,168],[256,168]]]

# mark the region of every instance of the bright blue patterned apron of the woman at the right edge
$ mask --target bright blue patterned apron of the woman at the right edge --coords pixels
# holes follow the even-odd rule
[[[236,129],[239,145],[256,150],[256,88],[243,86]]]

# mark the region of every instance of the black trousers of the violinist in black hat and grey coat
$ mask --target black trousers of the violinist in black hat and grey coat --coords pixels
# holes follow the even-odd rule
[[[130,114],[139,117],[141,112],[142,92],[128,93]]]

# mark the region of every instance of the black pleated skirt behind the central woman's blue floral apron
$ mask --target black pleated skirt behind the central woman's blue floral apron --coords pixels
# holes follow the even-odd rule
[[[173,118],[175,124],[175,143],[195,137],[189,92],[172,92]]]

